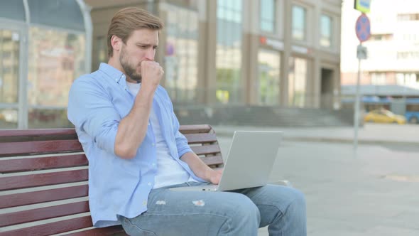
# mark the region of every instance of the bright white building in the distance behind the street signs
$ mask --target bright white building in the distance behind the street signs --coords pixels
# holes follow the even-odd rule
[[[342,25],[355,24],[359,11],[344,1]],[[361,61],[361,92],[378,97],[419,97],[419,1],[371,1],[371,37],[364,42],[368,58]],[[342,31],[342,91],[357,84],[354,29]]]

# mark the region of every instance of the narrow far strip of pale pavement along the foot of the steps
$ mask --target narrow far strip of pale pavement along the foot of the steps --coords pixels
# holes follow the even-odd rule
[[[277,130],[288,141],[353,143],[354,127],[251,127],[214,126],[217,136],[232,136],[235,130]],[[365,124],[358,130],[359,144],[419,145],[418,124]]]

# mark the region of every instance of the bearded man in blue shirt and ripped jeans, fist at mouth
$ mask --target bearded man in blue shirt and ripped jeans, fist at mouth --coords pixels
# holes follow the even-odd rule
[[[95,227],[129,235],[306,235],[303,194],[283,186],[229,192],[168,188],[218,183],[179,132],[163,68],[154,61],[163,23],[122,9],[108,31],[109,62],[75,80],[68,119],[89,159],[89,204]]]

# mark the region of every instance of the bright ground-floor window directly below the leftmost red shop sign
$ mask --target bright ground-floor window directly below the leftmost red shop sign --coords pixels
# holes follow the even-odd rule
[[[279,104],[280,58],[278,51],[259,50],[259,104]]]

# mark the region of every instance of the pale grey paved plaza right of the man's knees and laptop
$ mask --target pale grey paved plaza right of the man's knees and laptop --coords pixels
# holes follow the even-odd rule
[[[214,129],[225,158],[232,137],[227,133],[220,136],[218,127]],[[259,128],[252,130],[255,129]],[[371,129],[381,134],[388,131],[381,131],[379,126],[366,127],[364,138],[370,135],[373,141],[388,141],[400,132],[395,129],[394,134],[389,133],[388,139],[383,139],[379,134],[369,133]],[[343,135],[344,129],[341,132],[334,134],[350,139]],[[298,132],[294,129],[289,134]],[[403,140],[415,141],[414,136]],[[403,145],[393,149],[391,145],[363,144],[354,151],[349,143],[285,140],[270,181],[287,179],[303,191],[310,236],[417,236],[418,157],[418,148]],[[266,227],[259,230],[259,236],[267,235]]]

